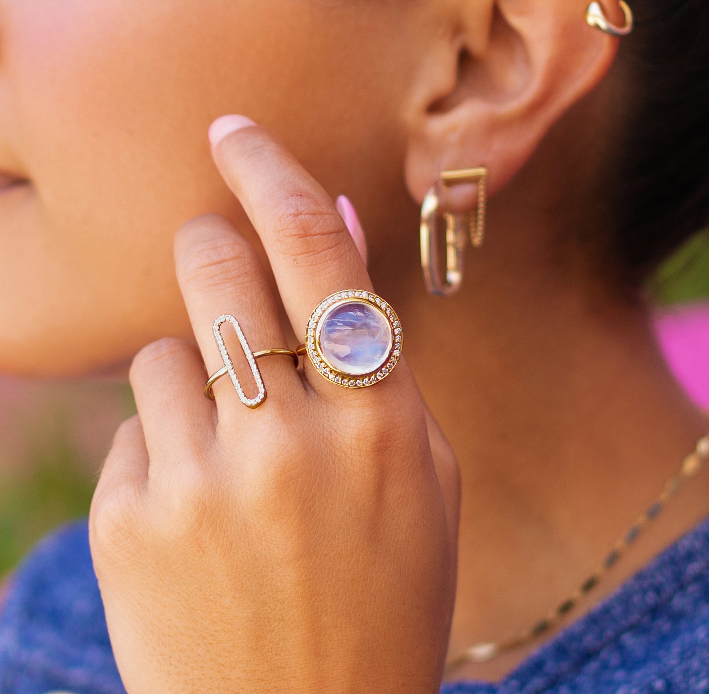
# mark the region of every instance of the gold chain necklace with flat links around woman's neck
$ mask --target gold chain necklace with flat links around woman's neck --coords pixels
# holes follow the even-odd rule
[[[528,629],[526,632],[522,632],[521,634],[499,643],[479,643],[469,647],[469,649],[464,651],[459,656],[447,661],[446,672],[452,672],[467,663],[485,663],[500,655],[504,651],[508,651],[515,647],[523,646],[532,642],[541,634],[544,634],[549,631],[549,629],[556,626],[566,614],[571,612],[571,610],[576,607],[579,600],[581,600],[584,595],[590,593],[593,588],[600,583],[601,578],[608,573],[610,567],[613,566],[618,559],[625,554],[627,548],[635,542],[643,528],[659,515],[666,503],[674,497],[681,486],[683,486],[683,483],[696,476],[708,459],[709,435],[700,438],[696,445],[696,449],[682,461],[679,474],[676,474],[665,483],[665,486],[662,488],[657,500],[650,505],[643,515],[637,518],[627,532],[625,532],[625,535],[620,537],[618,542],[615,543],[613,549],[611,549],[605,556],[605,559],[603,559],[601,565],[598,566],[598,569],[596,569],[596,571],[594,571],[591,576],[589,576],[586,581],[581,584],[575,593],[570,595],[569,598],[566,598],[566,600],[564,600],[564,602],[561,603],[555,610],[549,612],[549,615],[547,615],[540,622],[537,622],[536,625],[534,625],[531,629]]]

